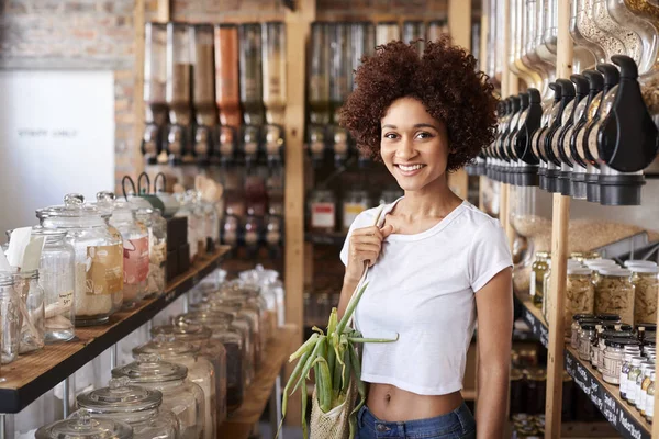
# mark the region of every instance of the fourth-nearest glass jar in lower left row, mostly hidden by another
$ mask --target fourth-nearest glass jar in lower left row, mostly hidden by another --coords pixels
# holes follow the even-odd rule
[[[174,337],[159,335],[146,345],[133,349],[133,357],[156,353],[165,361],[188,368],[188,380],[199,385],[204,396],[204,437],[217,437],[216,383],[211,362],[200,356],[200,348]]]

